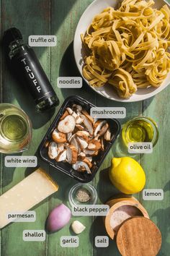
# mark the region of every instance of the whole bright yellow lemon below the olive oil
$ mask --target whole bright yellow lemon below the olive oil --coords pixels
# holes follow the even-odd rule
[[[109,169],[112,184],[125,194],[140,192],[146,184],[146,174],[133,158],[112,158]]]

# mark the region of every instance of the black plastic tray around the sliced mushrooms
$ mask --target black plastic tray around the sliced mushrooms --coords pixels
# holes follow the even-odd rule
[[[105,142],[105,145],[104,145],[105,150],[104,151],[101,150],[99,155],[93,158],[94,161],[96,162],[96,165],[91,168],[91,174],[87,174],[86,172],[75,171],[72,168],[71,164],[69,163],[56,162],[55,160],[50,159],[48,157],[48,148],[45,148],[45,142],[51,141],[52,132],[55,129],[55,127],[57,127],[58,121],[63,115],[64,111],[66,110],[67,107],[71,107],[75,103],[81,105],[88,112],[90,112],[91,107],[94,107],[94,105],[89,103],[89,101],[86,101],[84,98],[81,98],[76,95],[66,98],[60,110],[58,111],[57,116],[55,116],[53,124],[50,125],[48,132],[46,133],[45,137],[42,139],[42,142],[40,143],[40,146],[38,148],[38,153],[40,154],[40,157],[45,162],[48,162],[54,168],[58,169],[59,171],[63,171],[65,174],[67,174],[68,176],[71,176],[72,178],[78,180],[79,182],[86,183],[86,182],[91,182],[91,180],[94,179],[94,176],[97,174],[97,171],[102,165],[104,158],[106,158],[107,153],[109,152],[110,148],[112,147],[115,140],[117,139],[117,136],[120,134],[121,126],[120,126],[120,122],[117,121],[117,119],[107,119],[111,134],[114,136],[112,136],[111,141]]]

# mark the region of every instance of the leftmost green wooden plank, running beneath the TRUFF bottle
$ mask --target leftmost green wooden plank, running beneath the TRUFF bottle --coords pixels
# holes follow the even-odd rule
[[[39,22],[37,22],[39,21]],[[50,4],[49,1],[2,1],[2,28],[4,30],[9,27],[17,27],[22,31],[25,42],[32,34],[49,34],[50,33]],[[37,57],[50,75],[50,48],[35,48]],[[5,62],[3,63],[3,102],[14,103],[19,105],[32,120],[33,136],[30,150],[23,155],[34,155],[42,140],[42,136],[48,129],[46,121],[48,116],[39,115],[35,118],[35,105],[27,91],[22,89],[14,77],[9,74]],[[4,155],[3,155],[4,157]],[[25,168],[3,168],[3,192],[13,187],[27,175]],[[2,230],[1,236],[1,255],[46,255],[45,242],[23,242],[22,232],[24,229],[44,229],[45,218],[48,215],[48,204],[42,202],[37,208],[37,221],[35,223],[12,223]],[[30,246],[31,245],[31,246]]]

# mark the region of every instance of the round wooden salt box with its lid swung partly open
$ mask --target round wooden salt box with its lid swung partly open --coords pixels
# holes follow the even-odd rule
[[[156,256],[161,249],[161,232],[135,197],[107,202],[104,218],[107,234],[116,239],[122,256]]]

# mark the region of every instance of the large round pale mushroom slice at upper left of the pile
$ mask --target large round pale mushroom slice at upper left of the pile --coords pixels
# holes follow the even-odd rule
[[[65,119],[59,121],[58,123],[58,131],[63,133],[73,132],[76,126],[76,120],[73,116],[66,116]]]

